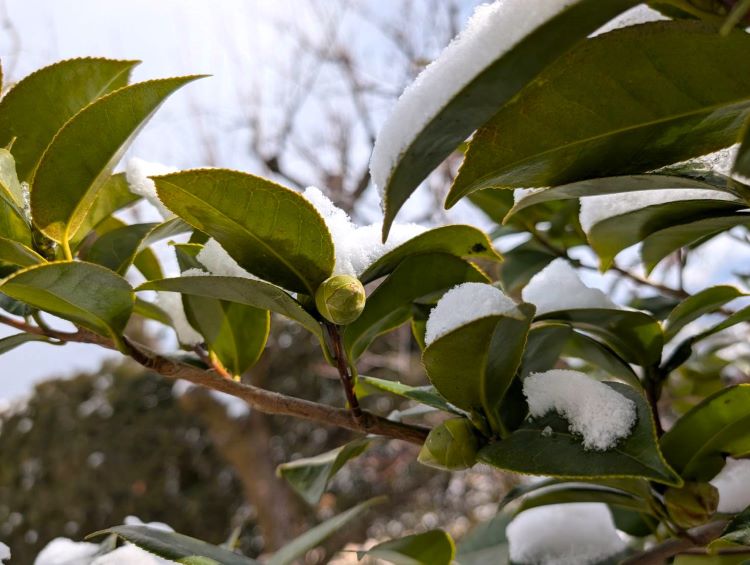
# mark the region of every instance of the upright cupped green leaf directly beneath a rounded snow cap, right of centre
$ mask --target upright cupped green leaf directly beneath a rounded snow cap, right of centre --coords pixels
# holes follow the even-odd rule
[[[422,356],[430,382],[451,404],[483,413],[497,433],[504,424],[500,404],[516,376],[534,307],[488,316],[436,339]]]

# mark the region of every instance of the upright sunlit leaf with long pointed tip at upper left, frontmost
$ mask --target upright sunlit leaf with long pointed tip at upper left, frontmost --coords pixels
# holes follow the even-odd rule
[[[39,229],[58,243],[68,242],[140,129],[170,94],[197,78],[126,86],[71,118],[44,152],[34,174],[31,210]]]

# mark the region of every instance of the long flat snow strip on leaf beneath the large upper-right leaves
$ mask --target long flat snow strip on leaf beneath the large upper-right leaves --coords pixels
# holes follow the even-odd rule
[[[581,227],[588,234],[592,227],[608,218],[648,206],[687,200],[736,200],[736,198],[727,192],[702,188],[665,188],[585,196],[581,198]]]

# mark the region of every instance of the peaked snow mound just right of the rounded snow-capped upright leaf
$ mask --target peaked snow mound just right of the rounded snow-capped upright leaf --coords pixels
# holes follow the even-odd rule
[[[537,315],[576,308],[618,308],[598,288],[590,288],[565,259],[552,261],[524,287],[524,302],[536,306]]]

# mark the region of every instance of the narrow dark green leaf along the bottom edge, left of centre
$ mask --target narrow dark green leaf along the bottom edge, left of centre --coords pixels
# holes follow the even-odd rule
[[[222,565],[259,565],[258,561],[244,557],[223,547],[208,544],[176,532],[165,532],[148,526],[115,526],[91,534],[88,538],[115,534],[125,541],[164,559],[182,561],[185,558],[204,557]],[[190,563],[190,561],[187,561]]]

